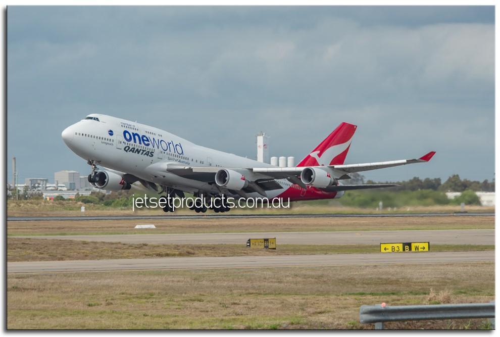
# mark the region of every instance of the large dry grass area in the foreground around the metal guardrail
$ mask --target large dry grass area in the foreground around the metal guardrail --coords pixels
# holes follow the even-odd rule
[[[493,263],[7,276],[7,328],[351,329],[363,304],[494,299]],[[448,301],[448,298],[446,299]],[[484,320],[389,328],[485,328]]]

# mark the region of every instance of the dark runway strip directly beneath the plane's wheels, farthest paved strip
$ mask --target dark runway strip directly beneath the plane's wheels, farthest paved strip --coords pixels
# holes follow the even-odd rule
[[[7,221],[48,220],[140,220],[140,219],[238,219],[238,218],[366,218],[422,216],[494,216],[495,213],[416,213],[416,214],[193,214],[193,215],[127,215],[127,216],[12,216]]]

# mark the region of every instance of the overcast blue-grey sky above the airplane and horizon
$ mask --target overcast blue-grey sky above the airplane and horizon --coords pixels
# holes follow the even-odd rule
[[[340,122],[367,172],[491,180],[494,8],[8,7],[8,181],[90,171],[61,139],[89,113],[298,162]]]

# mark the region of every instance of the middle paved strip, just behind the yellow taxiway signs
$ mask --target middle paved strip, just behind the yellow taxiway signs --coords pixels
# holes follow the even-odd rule
[[[337,232],[255,232],[202,234],[43,235],[29,238],[122,242],[127,244],[244,244],[249,238],[276,237],[278,244],[378,245],[391,242],[430,242],[446,245],[494,245],[494,229],[373,230]]]

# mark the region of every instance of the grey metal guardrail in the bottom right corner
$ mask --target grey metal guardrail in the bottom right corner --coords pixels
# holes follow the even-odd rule
[[[383,322],[461,318],[491,318],[494,329],[495,303],[360,307],[360,323],[375,323],[375,329],[383,329]]]

